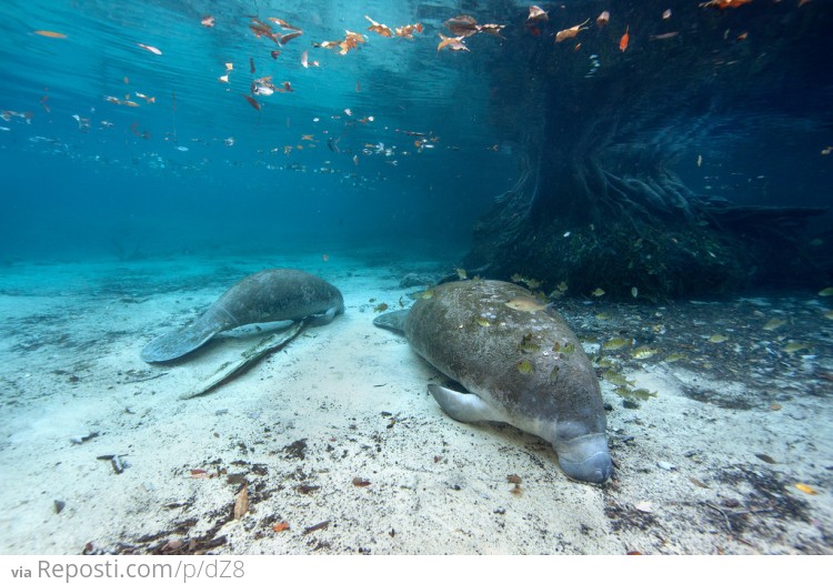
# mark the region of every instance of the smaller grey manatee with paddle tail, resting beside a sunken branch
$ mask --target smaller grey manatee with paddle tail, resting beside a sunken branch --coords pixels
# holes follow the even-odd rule
[[[342,312],[341,292],[320,278],[301,270],[263,270],[231,286],[193,323],[151,341],[141,356],[148,363],[171,361],[243,324],[309,318],[325,324]]]

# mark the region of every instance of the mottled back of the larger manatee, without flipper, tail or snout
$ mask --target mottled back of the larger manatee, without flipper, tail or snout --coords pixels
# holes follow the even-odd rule
[[[443,284],[414,303],[404,331],[442,373],[510,414],[604,431],[599,381],[581,343],[528,290],[489,280]]]

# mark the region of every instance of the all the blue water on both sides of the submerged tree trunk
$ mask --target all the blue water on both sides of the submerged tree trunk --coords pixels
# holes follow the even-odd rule
[[[545,6],[551,20],[534,50],[555,50],[549,37],[558,28],[609,8],[602,4]],[[651,32],[673,30],[694,42],[725,27],[731,41],[753,23],[749,43],[740,46],[749,50],[736,61],[745,71],[755,67],[755,54],[766,54],[762,42],[777,40],[762,24],[767,16],[785,33],[810,27],[800,20],[809,11],[829,18],[821,2],[696,11],[690,2],[669,6],[674,16],[665,24],[659,14],[645,17],[654,3],[613,2],[618,27],[639,18],[653,28],[634,31],[629,51],[635,57],[603,69],[628,77],[650,51],[673,59],[676,39],[652,40]],[[519,39],[525,11],[522,2],[8,0],[0,6],[0,260],[364,245],[462,256],[476,222],[519,177],[523,147],[506,139],[519,132],[498,115],[523,119],[530,103],[523,94],[534,91],[535,80],[505,87],[505,71],[493,71],[515,51],[530,50]],[[444,21],[460,12],[480,22],[521,17],[505,21],[506,39],[476,34],[466,39],[470,52],[438,51],[438,33],[449,33]],[[201,22],[209,14],[210,28]],[[368,30],[365,16],[424,29],[413,40],[383,38]],[[250,28],[255,17],[279,34],[290,29],[269,18],[303,33],[285,44],[258,38]],[[344,39],[345,30],[365,42],[344,56],[314,47]],[[596,47],[591,32],[576,40]],[[707,38],[703,61],[739,54],[740,41]],[[810,27],[789,39],[787,49],[780,48],[784,62],[756,72],[747,114],[743,102],[724,103],[699,119],[670,115],[665,125],[661,118],[659,130],[649,124],[653,135],[632,139],[679,150],[670,163],[696,193],[739,204],[827,205],[833,124],[824,103],[833,81],[822,54],[825,38]],[[564,75],[565,88],[581,81],[584,70],[570,66],[593,49],[580,44],[555,71],[541,74]],[[304,68],[304,52],[320,67]],[[714,74],[723,71],[715,64]],[[257,110],[245,98],[265,77],[292,91],[254,95]],[[697,84],[684,74],[679,81],[669,88]],[[692,100],[707,94],[707,82]],[[513,93],[514,108],[506,101]],[[589,95],[583,111],[554,119],[582,115],[592,123]],[[673,105],[661,91],[651,102],[658,111]],[[711,129],[701,135],[697,124]],[[695,163],[701,155],[702,167]],[[830,213],[813,221],[811,236],[829,239]]]

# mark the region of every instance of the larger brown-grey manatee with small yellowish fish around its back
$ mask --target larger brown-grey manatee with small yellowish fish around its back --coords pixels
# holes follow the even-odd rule
[[[464,392],[429,385],[454,420],[511,424],[550,442],[568,476],[610,477],[599,380],[552,305],[509,282],[463,280],[373,323],[404,333],[419,355],[462,385]]]

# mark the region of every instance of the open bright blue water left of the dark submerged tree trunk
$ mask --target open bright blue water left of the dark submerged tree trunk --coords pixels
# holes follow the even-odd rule
[[[391,242],[462,253],[515,180],[511,149],[495,152],[483,123],[484,78],[438,56],[439,20],[413,41],[368,32],[345,56],[311,46],[367,32],[365,13],[412,23],[409,2],[310,4],[3,2],[0,110],[21,115],[0,120],[0,256]],[[259,39],[254,14],[303,34]],[[304,69],[303,51],[320,67]],[[257,111],[244,95],[265,75],[293,91],[258,95]],[[436,141],[418,148],[400,130]]]

